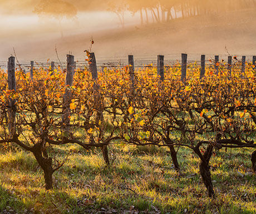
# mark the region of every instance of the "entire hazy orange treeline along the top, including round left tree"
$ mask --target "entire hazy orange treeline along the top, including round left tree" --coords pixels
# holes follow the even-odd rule
[[[29,1],[29,0],[26,0]],[[53,14],[61,19],[78,11],[111,11],[122,26],[125,12],[140,13],[140,23],[166,22],[202,14],[216,14],[256,8],[256,0],[36,0],[35,12]]]

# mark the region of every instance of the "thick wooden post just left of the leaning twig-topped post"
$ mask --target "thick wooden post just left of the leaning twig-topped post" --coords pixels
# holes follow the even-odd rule
[[[62,123],[65,127],[65,130],[68,131],[68,125],[70,124],[70,103],[72,99],[71,90],[68,87],[71,87],[73,84],[73,71],[74,71],[74,56],[67,54],[67,72],[66,72],[66,91],[63,96],[63,112],[62,112]]]

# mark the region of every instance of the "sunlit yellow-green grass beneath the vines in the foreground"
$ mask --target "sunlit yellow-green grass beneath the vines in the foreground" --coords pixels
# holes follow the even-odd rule
[[[206,194],[199,159],[185,148],[174,170],[167,148],[110,146],[105,166],[100,150],[54,147],[67,158],[46,191],[42,170],[31,153],[5,148],[0,155],[0,212],[10,213],[256,213],[253,150],[220,150],[211,158],[215,198]]]

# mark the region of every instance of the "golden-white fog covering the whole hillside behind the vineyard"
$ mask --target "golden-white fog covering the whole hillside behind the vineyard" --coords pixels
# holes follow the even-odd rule
[[[66,2],[68,6],[72,3]],[[136,9],[124,6],[115,11],[106,3],[85,7],[81,2],[84,1],[74,0],[74,14],[60,18],[58,14],[36,12],[40,0],[14,3],[1,0],[0,61],[7,61],[14,54],[13,48],[19,61],[56,59],[55,47],[62,60],[69,52],[83,59],[91,38],[95,41],[92,51],[102,59],[118,60],[127,54],[140,58],[165,54],[175,59],[182,52],[198,58],[199,54],[227,54],[227,49],[230,54],[256,54],[255,8],[251,4],[248,7],[236,4],[230,10],[223,6],[221,11],[200,9],[198,4],[191,4],[189,9],[184,9],[187,4],[181,7],[183,4],[157,3],[141,8],[136,4]]]

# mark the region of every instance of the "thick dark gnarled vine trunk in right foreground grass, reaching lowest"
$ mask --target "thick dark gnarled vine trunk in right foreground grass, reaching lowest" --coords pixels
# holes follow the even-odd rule
[[[210,173],[210,166],[209,166],[209,161],[212,154],[213,154],[213,146],[209,145],[206,148],[206,151],[203,155],[203,158],[201,158],[201,163],[199,165],[200,174],[203,178],[204,185],[207,188],[209,197],[214,197],[213,183],[211,183],[211,173]]]

